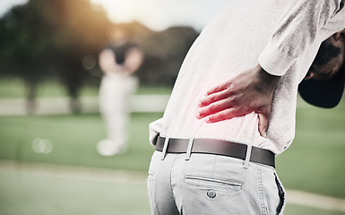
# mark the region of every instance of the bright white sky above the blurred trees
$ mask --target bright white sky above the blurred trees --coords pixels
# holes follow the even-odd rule
[[[14,4],[28,0],[1,0],[0,16]],[[100,4],[112,22],[142,22],[153,30],[189,25],[201,30],[231,0],[91,0]]]

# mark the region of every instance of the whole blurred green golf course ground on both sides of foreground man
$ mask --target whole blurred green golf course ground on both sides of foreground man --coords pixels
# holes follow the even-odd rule
[[[0,116],[0,215],[150,214],[148,125],[160,116],[133,113],[129,150],[114,157],[96,151],[106,136],[97,113]],[[51,142],[50,151],[35,151],[37,138]],[[345,101],[331,110],[298,101],[295,141],[277,158],[285,187],[344,199],[344,164]],[[345,212],[288,204],[284,214]]]

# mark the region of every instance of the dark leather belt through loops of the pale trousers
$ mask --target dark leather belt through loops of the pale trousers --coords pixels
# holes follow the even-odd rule
[[[165,137],[159,136],[156,142],[156,150],[163,151]],[[188,150],[190,139],[168,139],[167,153],[186,153]],[[211,139],[194,139],[191,153],[205,153],[224,155],[237,159],[246,159],[247,145],[237,142],[228,142]],[[275,154],[271,150],[264,150],[252,146],[249,161],[269,165],[275,168]]]

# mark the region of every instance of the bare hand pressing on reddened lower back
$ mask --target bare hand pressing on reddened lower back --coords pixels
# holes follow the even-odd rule
[[[273,92],[279,80],[280,76],[265,72],[258,64],[208,90],[199,102],[196,117],[211,124],[255,112],[259,116],[259,133],[266,137]]]

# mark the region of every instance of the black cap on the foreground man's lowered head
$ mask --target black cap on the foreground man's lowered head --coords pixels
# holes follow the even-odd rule
[[[341,67],[331,80],[304,80],[299,83],[298,91],[302,99],[316,107],[332,108],[341,101],[345,83],[345,66]]]

